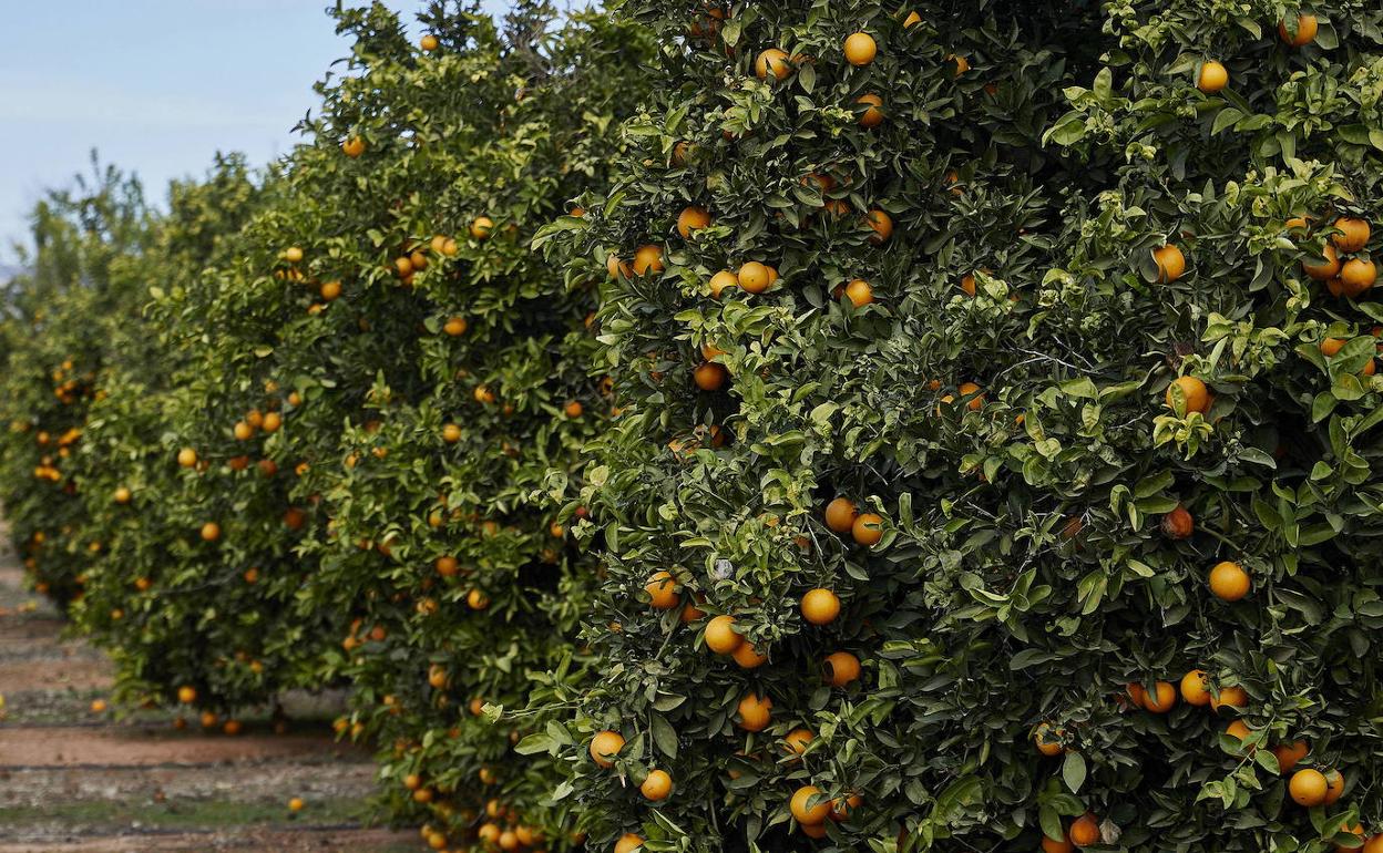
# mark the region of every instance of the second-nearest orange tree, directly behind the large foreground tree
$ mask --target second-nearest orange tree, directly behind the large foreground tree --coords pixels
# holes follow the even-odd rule
[[[563,823],[537,807],[553,762],[509,749],[544,720],[483,709],[521,705],[531,671],[578,671],[593,564],[541,489],[579,476],[610,404],[589,377],[593,288],[527,246],[606,180],[647,50],[538,3],[502,26],[449,3],[420,19],[418,46],[382,6],[337,12],[351,59],[318,87],[275,200],[198,288],[160,300],[201,353],[173,431],[212,466],[183,474],[198,484],[183,505],[220,507],[199,517],[220,524],[223,563],[178,607],[296,593],[301,662],[353,684],[339,726],[382,744],[396,814],[426,817],[429,841],[537,845]]]

